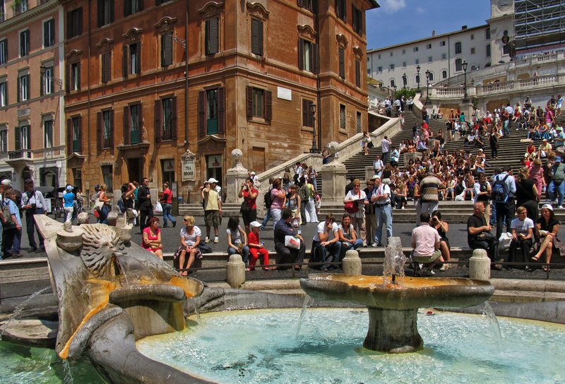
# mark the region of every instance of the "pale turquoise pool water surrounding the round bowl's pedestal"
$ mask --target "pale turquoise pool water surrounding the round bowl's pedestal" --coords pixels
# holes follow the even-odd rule
[[[299,309],[202,315],[185,332],[146,337],[141,353],[219,383],[565,383],[565,327],[486,316],[418,317],[424,349],[362,348],[367,311]],[[196,321],[196,320],[195,320]]]

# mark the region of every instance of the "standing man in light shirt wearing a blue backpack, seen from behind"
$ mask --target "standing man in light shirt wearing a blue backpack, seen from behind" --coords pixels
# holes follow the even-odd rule
[[[514,218],[514,197],[516,196],[516,180],[510,172],[509,165],[494,169],[491,198],[496,209],[496,239],[500,239],[504,224],[506,232],[510,232],[510,224]]]

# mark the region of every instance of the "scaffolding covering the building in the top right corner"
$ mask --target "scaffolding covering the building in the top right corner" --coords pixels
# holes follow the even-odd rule
[[[514,11],[518,54],[565,48],[563,0],[515,0]]]

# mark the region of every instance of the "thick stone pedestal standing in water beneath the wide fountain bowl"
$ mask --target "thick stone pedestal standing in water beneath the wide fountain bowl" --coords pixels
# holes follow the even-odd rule
[[[369,330],[363,347],[389,354],[403,354],[422,349],[424,342],[417,328],[418,310],[367,308]]]

